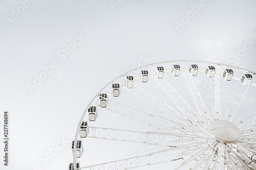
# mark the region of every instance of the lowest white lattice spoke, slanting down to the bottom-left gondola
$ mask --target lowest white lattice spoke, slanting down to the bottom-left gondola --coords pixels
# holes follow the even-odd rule
[[[182,158],[173,159],[173,150],[162,150],[158,152],[153,152],[151,154],[142,155],[138,157],[122,159],[117,161],[112,161],[103,164],[97,164],[92,166],[80,167],[80,169],[98,169],[98,170],[121,170],[121,169],[132,169],[136,167],[146,166],[146,165],[154,165],[169,161],[177,161]]]

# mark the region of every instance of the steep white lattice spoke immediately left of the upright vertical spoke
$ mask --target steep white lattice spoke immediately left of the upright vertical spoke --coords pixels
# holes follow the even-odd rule
[[[193,96],[193,99],[195,101],[195,104],[197,106],[198,112],[199,114],[201,113],[202,115],[204,113],[206,113],[208,115],[208,117],[206,117],[207,119],[210,119],[210,122],[213,122],[214,119],[212,118],[212,115],[210,114],[210,112],[208,111],[201,94],[199,93],[196,84],[193,80],[193,78],[191,77],[191,75],[188,73],[188,71],[182,71],[183,77],[187,83],[187,86],[190,90],[191,95]],[[203,111],[203,112],[202,112]]]

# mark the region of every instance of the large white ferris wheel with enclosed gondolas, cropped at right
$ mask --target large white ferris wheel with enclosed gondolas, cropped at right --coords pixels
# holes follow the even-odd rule
[[[122,74],[82,114],[69,169],[256,169],[255,74],[194,60]]]

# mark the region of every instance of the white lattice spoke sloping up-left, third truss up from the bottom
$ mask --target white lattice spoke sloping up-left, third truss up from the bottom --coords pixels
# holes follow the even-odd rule
[[[109,105],[104,109],[110,110],[112,112],[123,115],[125,117],[129,117],[131,119],[134,119],[138,122],[141,122],[143,124],[146,124],[148,126],[151,126],[161,131],[168,132],[169,130],[170,122],[167,118],[154,115],[154,114],[149,114],[109,99],[108,99],[108,102],[109,102]]]

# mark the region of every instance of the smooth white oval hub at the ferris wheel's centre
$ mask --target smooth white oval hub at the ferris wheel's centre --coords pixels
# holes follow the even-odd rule
[[[240,138],[240,130],[238,127],[226,120],[216,120],[212,122],[209,130],[216,139],[223,142],[232,143],[238,141]]]

